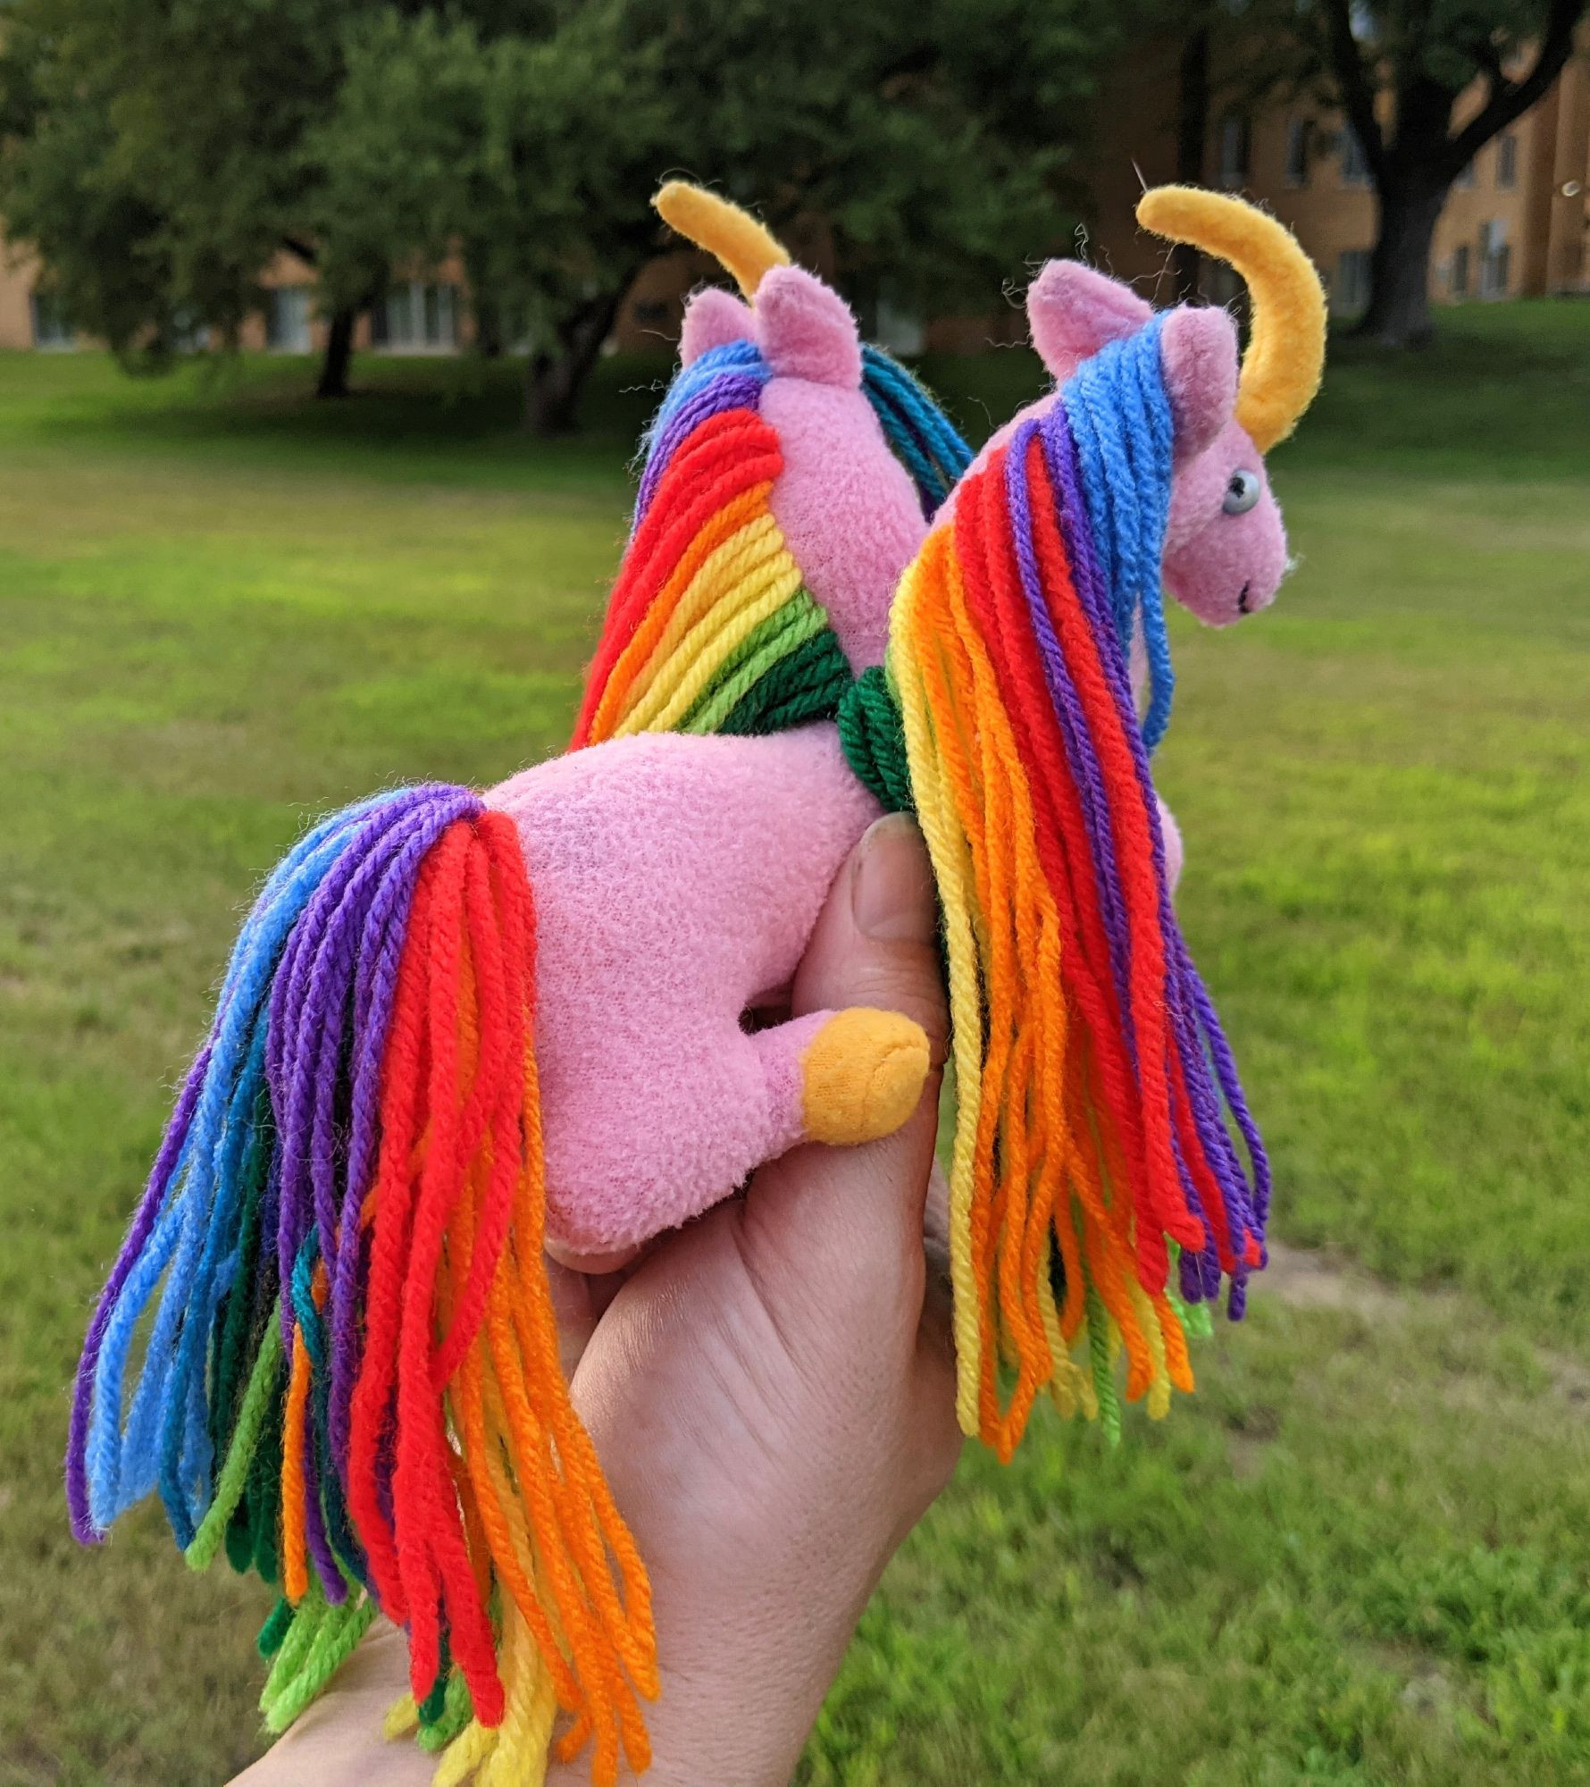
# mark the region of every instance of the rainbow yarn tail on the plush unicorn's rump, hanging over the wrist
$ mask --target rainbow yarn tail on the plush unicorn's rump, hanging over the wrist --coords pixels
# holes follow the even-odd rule
[[[534,960],[513,822],[466,788],[293,849],[95,1310],[66,1496],[91,1542],[159,1490],[189,1564],[280,1587],[272,1730],[381,1610],[439,1778],[540,1780],[561,1707],[600,1783],[645,1766],[656,1642],[557,1360]]]

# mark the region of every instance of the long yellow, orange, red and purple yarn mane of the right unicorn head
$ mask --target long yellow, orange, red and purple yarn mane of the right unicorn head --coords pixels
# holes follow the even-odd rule
[[[888,674],[947,931],[959,1417],[1009,1456],[1043,1390],[1118,1426],[1117,1349],[1151,1414],[1190,1390],[1183,1305],[1224,1276],[1242,1313],[1268,1206],[1170,904],[1063,402],[959,484]]]

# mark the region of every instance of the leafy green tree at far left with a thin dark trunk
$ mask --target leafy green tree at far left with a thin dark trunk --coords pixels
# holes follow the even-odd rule
[[[336,98],[348,0],[20,0],[5,23],[0,211],[73,320],[129,365],[236,341],[286,252],[316,266],[305,132]],[[89,227],[91,225],[91,227]],[[347,388],[329,316],[320,388]]]

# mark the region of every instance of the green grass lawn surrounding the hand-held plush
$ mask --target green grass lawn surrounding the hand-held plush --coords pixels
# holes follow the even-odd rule
[[[264,1590],[66,1531],[89,1301],[305,815],[561,743],[663,372],[548,449],[468,368],[0,357],[5,1787],[257,1751]],[[1177,627],[1159,779],[1288,1246],[1168,1422],[968,1451],[813,1787],[1590,1782],[1590,306],[1340,352],[1274,470],[1301,568]]]

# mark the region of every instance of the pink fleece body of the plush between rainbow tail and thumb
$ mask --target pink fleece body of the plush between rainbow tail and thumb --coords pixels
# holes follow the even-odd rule
[[[800,1140],[800,1054],[831,1013],[757,1035],[740,1019],[788,986],[879,808],[833,726],[618,738],[488,801],[536,897],[548,1231],[616,1251]]]

